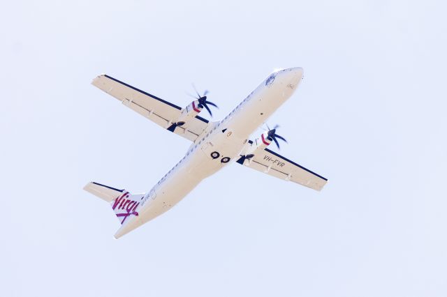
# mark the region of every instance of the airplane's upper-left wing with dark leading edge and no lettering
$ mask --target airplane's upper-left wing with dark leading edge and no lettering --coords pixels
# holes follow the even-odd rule
[[[165,129],[168,129],[182,113],[181,107],[141,91],[134,86],[120,82],[118,79],[108,75],[98,75],[91,84],[117,98],[126,107],[133,109],[138,114]],[[207,128],[207,125],[208,121],[206,119],[196,116],[191,120],[188,128],[177,127],[174,132],[194,142],[198,135],[202,134],[205,128]]]

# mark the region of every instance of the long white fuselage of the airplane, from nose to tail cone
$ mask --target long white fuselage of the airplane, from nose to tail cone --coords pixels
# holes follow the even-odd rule
[[[126,222],[115,237],[168,211],[200,181],[227,165],[228,158],[230,161],[238,158],[246,148],[248,137],[291,97],[301,79],[302,68],[274,72],[225,119],[210,122],[184,158],[142,198],[138,216]]]

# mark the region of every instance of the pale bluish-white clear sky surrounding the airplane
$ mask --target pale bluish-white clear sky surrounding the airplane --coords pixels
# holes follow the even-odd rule
[[[0,10],[1,296],[447,296],[443,1],[9,1]],[[221,119],[274,68],[268,121],[322,192],[233,164],[118,241],[82,191],[145,192],[189,142],[108,73]],[[275,149],[276,150],[276,149]],[[442,198],[444,197],[444,198]]]

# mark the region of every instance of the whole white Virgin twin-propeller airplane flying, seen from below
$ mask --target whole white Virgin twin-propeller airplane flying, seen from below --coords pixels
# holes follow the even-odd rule
[[[293,181],[314,190],[321,190],[326,178],[271,151],[274,142],[279,148],[277,126],[251,140],[250,135],[291,97],[302,79],[302,68],[277,70],[240,102],[225,119],[207,121],[199,116],[203,109],[212,116],[207,91],[181,108],[171,102],[120,82],[108,75],[99,75],[92,84],[117,98],[126,107],[192,142],[186,155],[145,194],[132,195],[126,190],[101,183],[87,183],[84,190],[108,201],[121,222],[115,238],[129,233],[145,222],[175,206],[204,178],[230,162],[255,169],[271,176]]]

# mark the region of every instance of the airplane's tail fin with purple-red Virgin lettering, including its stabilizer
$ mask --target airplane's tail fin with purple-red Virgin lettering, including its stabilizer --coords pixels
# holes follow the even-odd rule
[[[126,190],[119,190],[101,183],[87,183],[84,190],[110,203],[121,224],[131,215],[138,216],[138,206],[145,194],[131,195]]]

